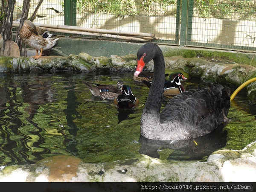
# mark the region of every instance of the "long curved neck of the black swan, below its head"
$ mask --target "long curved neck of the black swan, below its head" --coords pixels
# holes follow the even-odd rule
[[[155,131],[160,131],[160,109],[165,81],[165,62],[163,54],[157,55],[153,60],[153,81],[140,122],[141,134],[147,138],[149,138],[147,136],[148,134],[152,134]]]

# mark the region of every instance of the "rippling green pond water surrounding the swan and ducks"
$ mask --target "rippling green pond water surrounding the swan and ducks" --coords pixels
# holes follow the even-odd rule
[[[116,85],[119,79],[140,100],[137,108],[119,110],[112,101],[93,96],[82,82]],[[197,87],[198,81],[183,85]],[[247,104],[245,91],[231,103],[231,121],[221,131],[174,143],[140,138],[148,91],[133,80],[132,72],[0,74],[0,166],[32,164],[56,155],[76,156],[85,163],[125,160],[140,153],[204,161],[217,149],[242,149],[256,140],[256,108]],[[163,107],[168,100],[163,99]]]

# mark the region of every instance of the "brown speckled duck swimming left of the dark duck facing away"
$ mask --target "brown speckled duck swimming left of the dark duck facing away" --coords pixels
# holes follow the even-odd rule
[[[84,84],[90,89],[90,92],[94,96],[100,96],[103,99],[115,99],[122,93],[123,81],[119,80],[116,84],[116,87],[108,84],[96,84],[92,86],[91,84],[83,81]]]

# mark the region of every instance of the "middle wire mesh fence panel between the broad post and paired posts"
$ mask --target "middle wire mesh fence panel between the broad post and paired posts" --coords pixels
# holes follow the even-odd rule
[[[177,44],[177,0],[79,0],[77,26],[155,34]]]

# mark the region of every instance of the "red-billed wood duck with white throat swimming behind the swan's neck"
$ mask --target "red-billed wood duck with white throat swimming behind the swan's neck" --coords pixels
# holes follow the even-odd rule
[[[172,79],[172,80],[171,80]],[[182,73],[175,73],[169,77],[169,80],[165,80],[163,94],[166,96],[174,96],[185,91],[185,88],[180,83],[180,80],[186,80]],[[142,81],[149,88],[151,87],[151,81]]]

